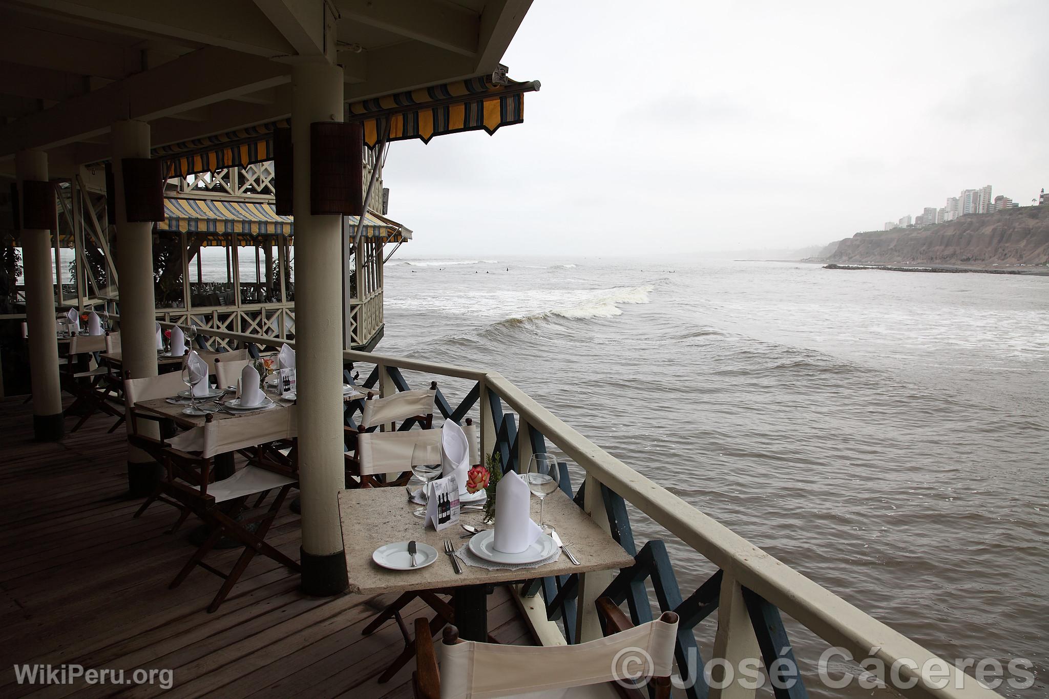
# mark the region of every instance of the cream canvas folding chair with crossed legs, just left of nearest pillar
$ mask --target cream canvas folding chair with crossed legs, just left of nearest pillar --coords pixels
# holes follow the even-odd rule
[[[208,538],[169,587],[174,589],[181,585],[197,566],[224,578],[208,606],[208,611],[214,612],[256,553],[296,572],[301,570],[297,562],[264,541],[288,490],[299,486],[299,475],[294,407],[235,418],[213,419],[209,415],[206,420],[204,427],[174,437],[171,446],[164,450],[167,477],[160,483],[158,497],[181,508],[181,520],[192,512],[211,528]],[[281,447],[288,443],[291,449],[284,454]],[[211,482],[214,457],[230,452],[249,454],[248,465],[230,478]],[[269,508],[238,521],[238,515],[245,509],[250,497],[259,496],[253,506],[258,509],[269,493],[275,489],[277,496]],[[250,525],[255,525],[254,530]],[[243,552],[229,573],[204,562],[208,552],[223,537],[236,539],[244,545]]]

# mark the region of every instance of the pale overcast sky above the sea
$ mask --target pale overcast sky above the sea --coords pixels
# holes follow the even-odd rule
[[[1049,1],[535,0],[524,123],[392,145],[409,256],[821,244],[1049,187]]]

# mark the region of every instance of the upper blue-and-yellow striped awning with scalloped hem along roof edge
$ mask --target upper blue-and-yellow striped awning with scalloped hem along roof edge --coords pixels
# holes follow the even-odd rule
[[[459,131],[496,129],[524,121],[524,92],[539,89],[538,82],[496,84],[491,75],[424,87],[382,97],[349,103],[346,119],[364,123],[364,140],[374,146],[386,132],[389,140],[420,138]],[[280,119],[236,131],[194,138],[153,149],[164,158],[168,177],[185,177],[224,168],[273,159],[274,129],[291,126]]]

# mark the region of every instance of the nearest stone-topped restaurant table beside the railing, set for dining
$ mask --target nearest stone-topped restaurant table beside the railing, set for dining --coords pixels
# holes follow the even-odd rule
[[[539,521],[539,501],[531,498],[532,519]],[[423,526],[423,520],[412,515],[419,505],[409,503],[403,488],[359,488],[339,493],[339,518],[342,541],[346,549],[346,574],[349,592],[366,595],[387,592],[410,592],[451,589],[455,607],[455,626],[459,637],[485,641],[488,638],[488,592],[496,585],[523,582],[550,575],[569,575],[593,570],[626,568],[634,558],[597,525],[561,490],[547,496],[543,524],[560,534],[580,565],[573,565],[561,555],[553,563],[537,568],[487,570],[459,561],[458,574],[445,553],[444,540],[450,539],[456,549],[467,543],[461,524],[490,528],[483,523],[480,510],[459,514],[459,524],[441,531]],[[371,560],[371,553],[386,544],[414,540],[437,549],[437,560],[425,568],[388,570]]]

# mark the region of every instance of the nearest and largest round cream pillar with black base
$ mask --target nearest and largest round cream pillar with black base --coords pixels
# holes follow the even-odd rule
[[[342,436],[342,217],[309,214],[309,125],[341,122],[342,68],[292,70],[295,148],[295,340],[298,376],[302,589],[346,589],[338,493],[345,487]]]

